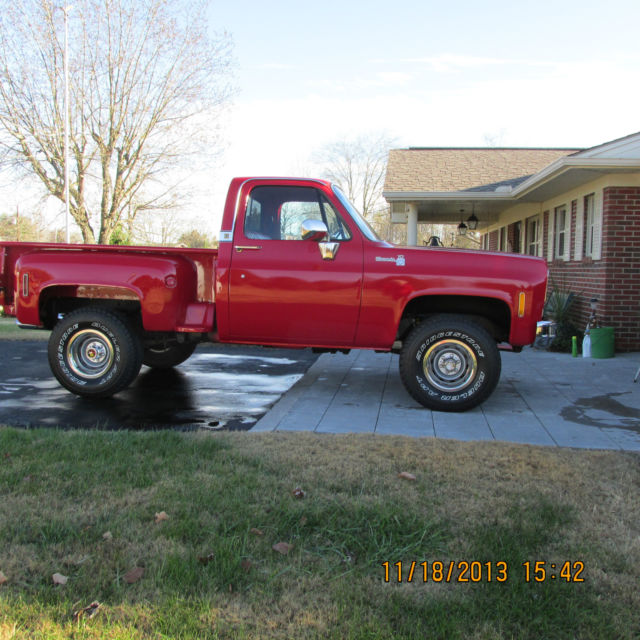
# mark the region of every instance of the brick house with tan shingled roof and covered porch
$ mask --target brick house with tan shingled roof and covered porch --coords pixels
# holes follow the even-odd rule
[[[424,244],[419,223],[477,220],[482,249],[546,259],[578,326],[597,298],[616,348],[640,351],[640,133],[590,149],[394,149],[384,197],[408,244]]]

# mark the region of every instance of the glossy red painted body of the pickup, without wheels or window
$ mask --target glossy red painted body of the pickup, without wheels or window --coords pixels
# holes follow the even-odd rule
[[[245,209],[258,186],[316,189],[351,238],[339,243],[335,259],[323,260],[313,240],[248,237]],[[0,304],[24,325],[42,326],[53,299],[129,300],[139,303],[150,332],[379,350],[391,350],[407,305],[419,303],[424,313],[443,297],[449,306],[464,300],[467,313],[474,301],[478,309],[498,303],[508,315],[509,343],[530,344],[547,279],[538,258],[374,240],[329,183],[259,178],[231,182],[218,250],[7,242],[0,243],[0,269]]]

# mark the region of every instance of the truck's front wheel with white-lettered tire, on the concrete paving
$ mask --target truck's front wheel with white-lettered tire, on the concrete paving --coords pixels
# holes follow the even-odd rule
[[[435,411],[467,411],[484,402],[500,379],[496,341],[473,320],[434,316],[419,324],[400,353],[400,377],[420,404]]]

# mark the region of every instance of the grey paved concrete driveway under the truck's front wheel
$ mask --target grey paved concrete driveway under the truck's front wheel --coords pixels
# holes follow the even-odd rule
[[[502,377],[480,407],[429,411],[404,390],[398,356],[320,356],[252,431],[376,433],[640,451],[640,354],[606,360],[531,348],[502,352]]]

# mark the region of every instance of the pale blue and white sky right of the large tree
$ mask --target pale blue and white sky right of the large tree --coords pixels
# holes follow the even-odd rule
[[[358,133],[588,147],[640,130],[637,0],[236,0],[211,17],[237,59],[224,187],[317,171],[314,150]]]

